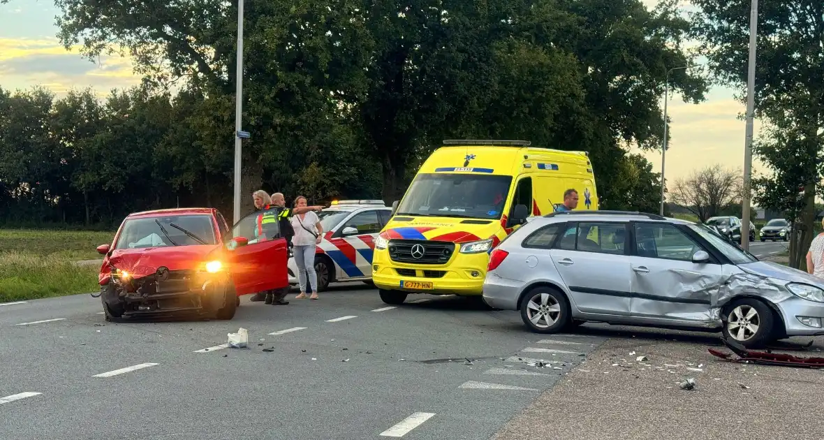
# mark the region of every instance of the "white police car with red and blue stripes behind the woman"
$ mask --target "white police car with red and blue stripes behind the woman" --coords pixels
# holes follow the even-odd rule
[[[375,238],[389,222],[391,212],[382,200],[336,200],[318,213],[324,230],[315,250],[318,291],[329,283],[372,283]],[[288,269],[289,284],[297,285],[294,257],[289,259]]]

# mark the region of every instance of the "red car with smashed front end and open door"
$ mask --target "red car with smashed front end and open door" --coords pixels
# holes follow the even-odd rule
[[[133,213],[105,255],[99,283],[106,321],[177,313],[232,319],[240,296],[288,286],[278,223],[250,213],[230,231],[214,208]]]

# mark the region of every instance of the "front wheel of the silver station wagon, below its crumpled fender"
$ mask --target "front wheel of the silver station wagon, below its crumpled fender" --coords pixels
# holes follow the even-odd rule
[[[756,349],[775,334],[775,316],[764,302],[755,298],[733,301],[723,309],[723,337]]]

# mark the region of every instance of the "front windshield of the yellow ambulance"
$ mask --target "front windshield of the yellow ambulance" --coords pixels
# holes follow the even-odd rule
[[[500,218],[512,176],[419,174],[397,214],[424,217]]]

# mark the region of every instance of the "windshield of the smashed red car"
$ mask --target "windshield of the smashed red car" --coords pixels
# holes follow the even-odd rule
[[[212,216],[169,215],[129,218],[124,222],[115,249],[216,244]]]

